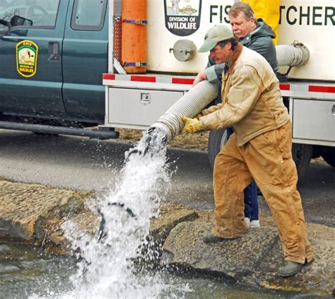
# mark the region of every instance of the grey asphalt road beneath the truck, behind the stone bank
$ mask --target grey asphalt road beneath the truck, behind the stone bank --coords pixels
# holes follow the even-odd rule
[[[71,190],[107,192],[124,163],[130,145],[69,136],[46,137],[0,130],[0,177],[23,183],[40,183]],[[213,209],[212,170],[206,152],[171,149],[177,171],[167,201],[199,209]],[[312,163],[304,185],[299,186],[309,222],[335,227],[335,169]],[[264,198],[259,209],[270,214]]]

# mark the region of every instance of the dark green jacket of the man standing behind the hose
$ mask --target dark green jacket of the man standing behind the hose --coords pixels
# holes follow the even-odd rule
[[[274,30],[267,25],[264,20],[257,20],[257,28],[250,32],[246,37],[242,37],[239,42],[257,53],[261,54],[269,62],[271,68],[278,71],[278,61],[276,56],[276,46],[272,39],[276,37]],[[211,58],[208,58],[207,68],[205,70],[207,80],[211,83],[221,82],[224,63],[216,64]]]

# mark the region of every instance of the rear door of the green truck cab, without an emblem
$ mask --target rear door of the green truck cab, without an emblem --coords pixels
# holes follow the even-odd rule
[[[63,46],[66,112],[78,120],[104,123],[107,72],[107,0],[73,0]]]

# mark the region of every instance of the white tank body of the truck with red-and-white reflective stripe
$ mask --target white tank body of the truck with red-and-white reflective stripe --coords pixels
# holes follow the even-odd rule
[[[109,5],[114,22],[109,28],[108,73],[103,75],[105,126],[145,130],[192,87],[208,59],[196,49],[208,28],[229,25],[233,1],[148,0],[145,20],[133,21],[134,28],[146,26],[147,30],[147,59],[136,61],[139,67],[146,66],[142,74],[122,68],[124,58],[115,47],[122,47],[121,1]],[[280,86],[293,123],[293,157],[303,176],[315,157],[322,156],[335,166],[335,7],[333,0],[281,0],[280,9],[278,45],[299,44],[305,51],[303,66],[279,69],[288,78]],[[294,59],[299,58],[293,54]],[[211,163],[224,143],[225,130],[210,133]]]

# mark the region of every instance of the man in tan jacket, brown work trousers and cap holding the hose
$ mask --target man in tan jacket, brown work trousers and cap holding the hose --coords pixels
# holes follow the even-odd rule
[[[285,260],[278,274],[298,273],[313,260],[307,238],[295,163],[291,154],[291,124],[283,104],[279,82],[269,63],[233,37],[225,25],[205,35],[199,52],[210,51],[216,63],[225,63],[222,102],[186,118],[182,133],[233,127],[214,164],[213,185],[216,225],[204,242],[216,243],[242,237],[243,190],[252,178],[268,203],[278,225]]]

